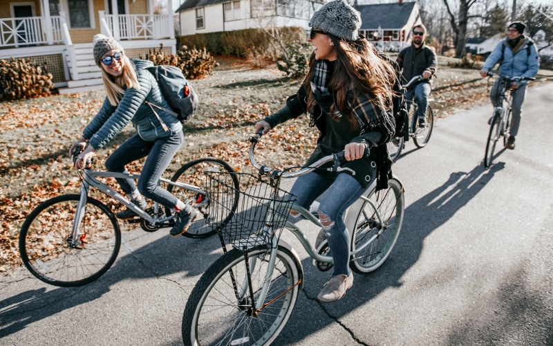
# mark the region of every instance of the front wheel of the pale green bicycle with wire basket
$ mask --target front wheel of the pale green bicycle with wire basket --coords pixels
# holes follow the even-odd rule
[[[254,295],[259,292],[268,268],[267,247],[257,246],[247,253],[234,249],[220,257],[202,275],[186,304],[182,317],[185,345],[269,345],[288,322],[302,280],[297,257],[288,248],[277,247],[272,282],[265,299],[270,304],[254,317],[245,278],[245,255],[252,271],[252,290]],[[238,298],[236,292],[243,286],[247,298]]]

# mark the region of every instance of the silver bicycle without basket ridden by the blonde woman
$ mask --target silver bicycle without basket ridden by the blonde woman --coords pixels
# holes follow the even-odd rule
[[[75,148],[73,162],[82,147]],[[97,178],[138,179],[139,174],[97,172],[89,168],[77,171],[82,181],[80,194],[64,194],[39,204],[25,219],[19,233],[19,253],[26,268],[48,284],[79,286],[102,276],[115,262],[121,245],[121,230],[111,208],[88,196],[90,188],[106,194],[123,206],[131,208],[146,232],[171,227],[175,214],[158,203],[142,210],[129,199]],[[238,203],[238,193],[228,194],[227,210],[216,210],[207,191],[205,172],[234,172],[225,161],[198,158],[182,165],[169,179],[158,183],[181,201],[189,203],[199,213],[185,237],[203,238],[216,233],[227,224]],[[232,177],[232,176],[231,176]],[[238,191],[238,180],[229,184]]]

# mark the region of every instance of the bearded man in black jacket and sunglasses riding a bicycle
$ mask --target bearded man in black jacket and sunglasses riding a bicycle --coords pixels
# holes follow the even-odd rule
[[[427,114],[428,96],[430,95],[432,80],[431,77],[438,69],[438,58],[433,48],[424,44],[427,37],[427,28],[422,24],[413,26],[413,44],[405,48],[397,56],[397,64],[402,69],[402,77],[405,81],[411,80],[416,75],[422,75],[424,80],[406,91],[406,100],[411,100],[415,93],[415,102],[418,104],[419,127],[425,127],[424,120]]]

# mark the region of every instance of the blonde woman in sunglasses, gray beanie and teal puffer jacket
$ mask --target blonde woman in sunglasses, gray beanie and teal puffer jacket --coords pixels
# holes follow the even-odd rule
[[[102,149],[129,122],[137,134],[126,140],[106,160],[109,172],[127,172],[125,165],[146,158],[138,186],[133,179],[117,181],[133,204],[142,210],[147,208],[143,196],[176,212],[175,225],[170,234],[180,235],[187,231],[198,211],[180,201],[158,185],[173,156],[184,142],[182,124],[163,109],[169,104],[160,91],[158,82],[147,68],[153,66],[146,60],[129,59],[123,47],[112,37],[94,37],[94,61],[102,71],[106,100],[102,109],[84,129],[81,138],[75,140],[69,155],[77,145],[86,148],[79,154],[75,167],[82,169],[93,153]],[[137,214],[126,209],[115,214],[119,219],[131,219]]]

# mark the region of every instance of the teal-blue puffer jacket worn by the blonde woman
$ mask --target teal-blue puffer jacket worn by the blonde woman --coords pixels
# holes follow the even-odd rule
[[[119,105],[112,106],[108,98],[104,100],[102,109],[95,118],[84,129],[83,136],[94,149],[101,149],[115,135],[117,135],[130,121],[143,140],[153,141],[157,138],[169,137],[182,131],[182,124],[171,114],[154,108],[158,116],[165,122],[167,131],[155,113],[144,101],[158,104],[161,107],[169,108],[169,104],[163,97],[156,78],[146,70],[153,66],[153,63],[147,60],[131,59],[138,76],[140,90],[126,89]]]

